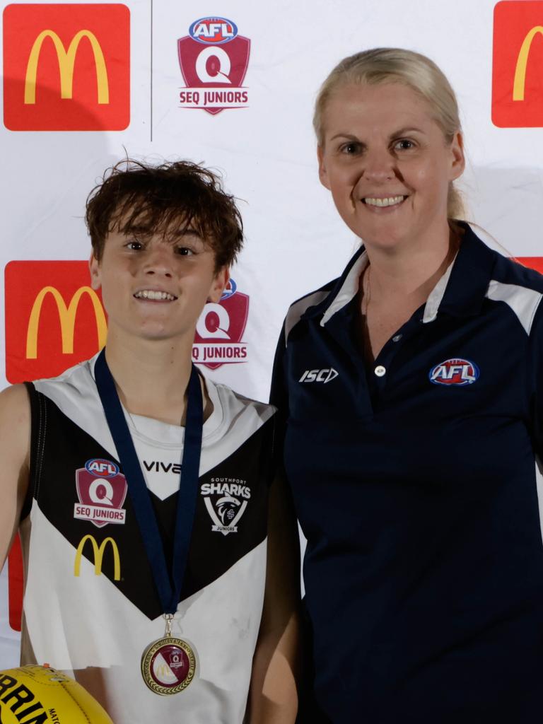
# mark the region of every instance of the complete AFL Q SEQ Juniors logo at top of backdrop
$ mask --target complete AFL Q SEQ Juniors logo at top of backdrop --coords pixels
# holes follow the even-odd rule
[[[180,90],[182,108],[199,108],[217,114],[248,105],[243,88],[251,41],[238,35],[237,26],[225,17],[201,17],[177,41],[177,54],[186,88]]]

